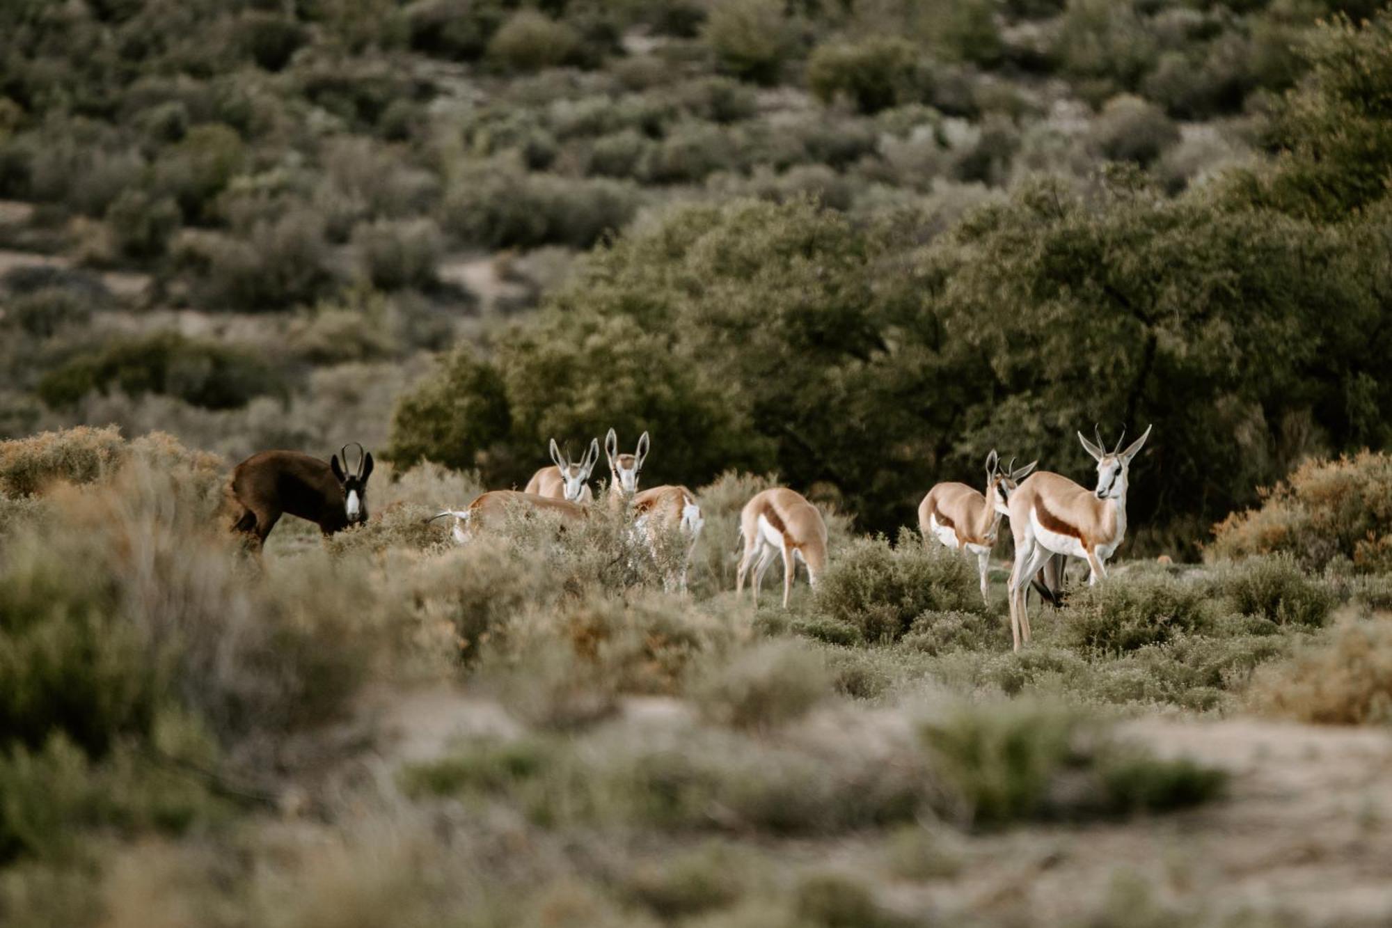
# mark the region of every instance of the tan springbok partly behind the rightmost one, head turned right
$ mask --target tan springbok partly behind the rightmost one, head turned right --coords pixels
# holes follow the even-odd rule
[[[991,549],[1006,514],[1009,495],[1020,481],[1038,467],[1030,461],[1018,471],[1011,464],[999,470],[999,456],[992,449],[986,456],[986,492],[966,484],[938,484],[919,503],[919,531],[924,538],[937,538],[952,550],[976,555],[977,574],[981,577],[981,599],[991,602],[986,581],[991,564]]]

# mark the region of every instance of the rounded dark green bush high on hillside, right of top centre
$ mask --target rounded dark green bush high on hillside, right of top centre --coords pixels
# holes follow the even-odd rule
[[[919,102],[928,79],[919,49],[898,38],[825,43],[807,59],[809,89],[824,103],[844,95],[862,113]]]

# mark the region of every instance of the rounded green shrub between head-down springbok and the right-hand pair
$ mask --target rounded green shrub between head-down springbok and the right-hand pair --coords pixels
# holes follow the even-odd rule
[[[926,612],[979,610],[981,594],[960,555],[927,546],[903,529],[896,548],[881,536],[838,550],[814,603],[817,612],[859,628],[867,641],[896,641]]]

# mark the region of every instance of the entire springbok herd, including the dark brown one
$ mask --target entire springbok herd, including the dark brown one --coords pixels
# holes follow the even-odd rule
[[[1077,439],[1097,461],[1097,486],[1091,490],[1059,474],[1036,471],[1038,461],[1004,468],[992,450],[986,457],[986,492],[966,484],[938,484],[919,503],[919,529],[954,550],[977,557],[981,598],[987,599],[987,564],[995,546],[1001,517],[1009,516],[1015,536],[1015,567],[1011,570],[1009,606],[1015,649],[1030,640],[1026,592],[1033,582],[1047,599],[1057,602],[1062,569],[1068,557],[1082,557],[1090,569],[1089,582],[1107,577],[1107,560],[1126,535],[1126,485],[1132,458],[1146,444],[1150,429],[1122,450],[1122,439],[1108,451],[1100,432],[1097,442],[1083,433]],[[330,461],[299,451],[262,451],[232,470],[228,496],[235,507],[234,531],[249,535],[259,549],[283,514],[316,523],[324,534],[367,521],[367,478],[372,454],[358,444],[358,465],[348,470],[348,447]],[[526,489],[490,490],[465,510],[444,510],[432,518],[454,518],[452,535],[466,543],[473,531],[512,511],[550,511],[562,523],[589,516],[594,495],[590,472],[599,463],[599,440],[590,442],[579,461],[562,454],[551,439],[551,467],[543,467]],[[686,569],[704,525],[696,495],[685,486],[663,485],[638,489],[647,460],[649,436],[643,432],[632,454],[619,454],[614,429],[604,438],[610,465],[608,506],[632,517],[635,534],[654,548],[664,532],[677,531],[685,542],[679,573],[670,582],[686,589]],[[340,461],[340,456],[342,460]],[[990,502],[987,502],[990,500]],[[827,524],[816,506],[785,486],[754,495],[739,514],[745,550],[735,580],[742,594],[753,566],[753,598],[775,555],[784,562],[784,608],[800,560],[816,585],[827,563]],[[757,562],[756,562],[757,556]]]

